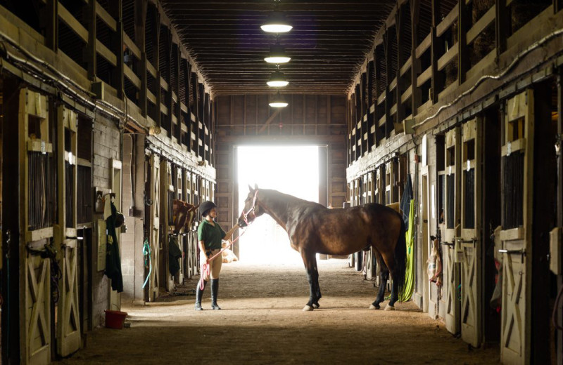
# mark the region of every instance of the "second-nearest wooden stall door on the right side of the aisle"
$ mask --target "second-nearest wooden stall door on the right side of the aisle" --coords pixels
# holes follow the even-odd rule
[[[462,126],[461,236],[461,321],[462,339],[481,343],[481,138],[482,119]]]

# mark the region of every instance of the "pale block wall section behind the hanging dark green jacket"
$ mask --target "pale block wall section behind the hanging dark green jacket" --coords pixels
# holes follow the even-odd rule
[[[121,159],[121,135],[115,123],[96,114],[94,121],[94,159],[92,164],[92,185],[103,189],[111,188],[111,159]],[[103,215],[94,214],[94,222],[103,219]],[[96,232],[96,230],[94,230]],[[110,281],[98,271],[98,238],[94,234],[94,262],[92,267],[92,326],[103,324],[103,311],[110,307]]]

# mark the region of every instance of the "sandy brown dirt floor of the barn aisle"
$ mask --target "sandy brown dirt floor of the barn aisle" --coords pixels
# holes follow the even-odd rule
[[[372,281],[346,260],[319,262],[321,307],[303,312],[303,265],[224,264],[219,305],[194,296],[122,305],[130,328],[96,328],[62,364],[498,364],[498,345],[472,349],[412,302],[368,310]],[[179,291],[191,291],[195,279]],[[386,304],[386,303],[384,303]],[[382,306],[383,308],[384,306]]]

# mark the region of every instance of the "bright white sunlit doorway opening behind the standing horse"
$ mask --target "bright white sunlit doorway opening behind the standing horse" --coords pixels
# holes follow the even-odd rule
[[[239,156],[239,207],[248,195],[248,185],[273,189],[309,201],[319,201],[319,147],[241,146]],[[303,265],[289,246],[286,232],[270,215],[262,215],[240,240],[244,263]]]

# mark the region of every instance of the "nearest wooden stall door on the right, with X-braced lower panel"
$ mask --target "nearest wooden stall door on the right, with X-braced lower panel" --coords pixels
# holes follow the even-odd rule
[[[531,333],[531,223],[533,92],[507,101],[502,135],[502,316],[500,358],[529,364]]]

